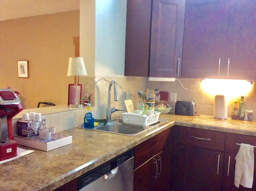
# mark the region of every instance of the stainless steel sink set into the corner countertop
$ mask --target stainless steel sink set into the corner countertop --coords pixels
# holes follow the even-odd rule
[[[135,136],[135,135],[138,135],[139,133],[147,131],[148,129],[151,129],[152,127],[155,127],[156,125],[159,125],[160,123],[163,123],[164,121],[166,120],[160,119],[158,122],[152,125],[142,127],[139,125],[132,125],[132,124],[126,125],[122,123],[122,120],[117,120],[115,123],[98,125],[97,127],[94,127],[93,129],[90,129],[90,130],[104,131],[108,133],[116,133],[116,134],[127,135],[127,136]],[[83,126],[80,126],[80,128],[83,128]]]

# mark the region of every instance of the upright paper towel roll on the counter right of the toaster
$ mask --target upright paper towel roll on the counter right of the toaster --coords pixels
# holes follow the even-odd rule
[[[225,96],[216,95],[214,97],[213,117],[217,119],[228,118],[228,103]]]

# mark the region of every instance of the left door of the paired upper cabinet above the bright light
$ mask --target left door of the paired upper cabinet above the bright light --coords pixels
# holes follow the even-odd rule
[[[186,0],[182,78],[222,76],[228,0]]]

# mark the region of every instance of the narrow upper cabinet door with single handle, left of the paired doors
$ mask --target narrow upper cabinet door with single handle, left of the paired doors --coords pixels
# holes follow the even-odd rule
[[[180,77],[185,0],[153,0],[150,77]]]

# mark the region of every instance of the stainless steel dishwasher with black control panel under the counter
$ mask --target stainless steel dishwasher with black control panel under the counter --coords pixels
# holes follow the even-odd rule
[[[78,191],[132,191],[134,149],[78,177]]]

